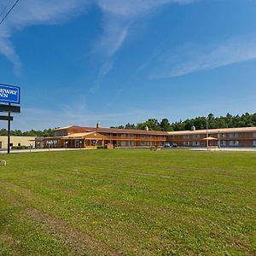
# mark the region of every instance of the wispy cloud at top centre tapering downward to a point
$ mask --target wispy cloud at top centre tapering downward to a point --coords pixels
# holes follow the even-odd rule
[[[127,38],[137,20],[156,13],[166,4],[185,4],[194,1],[195,0],[96,0],[96,3],[100,9],[102,9],[103,13],[103,32],[96,44],[95,50],[102,52],[107,58],[101,70],[105,69],[106,64],[108,65],[113,55],[121,48],[125,42],[125,38]],[[113,67],[113,60],[111,63],[112,65],[111,68],[108,68],[108,72],[110,72]],[[102,75],[101,70],[92,87],[93,90],[100,87],[104,76],[108,74],[107,72]]]

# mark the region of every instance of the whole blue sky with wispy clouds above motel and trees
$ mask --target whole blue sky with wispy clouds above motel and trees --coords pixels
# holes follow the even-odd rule
[[[256,1],[20,0],[0,67],[13,129],[254,113]]]

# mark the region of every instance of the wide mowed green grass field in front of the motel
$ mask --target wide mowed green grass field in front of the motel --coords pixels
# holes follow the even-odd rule
[[[256,152],[0,157],[0,255],[256,254]]]

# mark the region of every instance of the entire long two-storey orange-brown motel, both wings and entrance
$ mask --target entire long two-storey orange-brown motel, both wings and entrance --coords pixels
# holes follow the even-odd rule
[[[218,148],[256,148],[256,127],[222,128],[191,131],[148,131],[117,128],[67,126],[57,128],[52,137],[36,138],[37,148],[149,148],[164,143],[179,147],[206,147],[206,137],[213,137],[209,146]]]

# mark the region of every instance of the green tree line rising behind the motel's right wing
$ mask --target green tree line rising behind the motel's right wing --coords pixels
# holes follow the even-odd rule
[[[148,119],[143,123],[119,125],[113,128],[120,129],[136,129],[144,130],[148,126],[150,131],[186,131],[195,126],[196,130],[214,128],[234,128],[234,127],[253,127],[256,126],[256,113],[243,113],[241,115],[232,115],[227,113],[225,116],[215,117],[213,113],[209,113],[207,117],[199,116],[194,119],[179,120],[170,123],[168,119]]]

